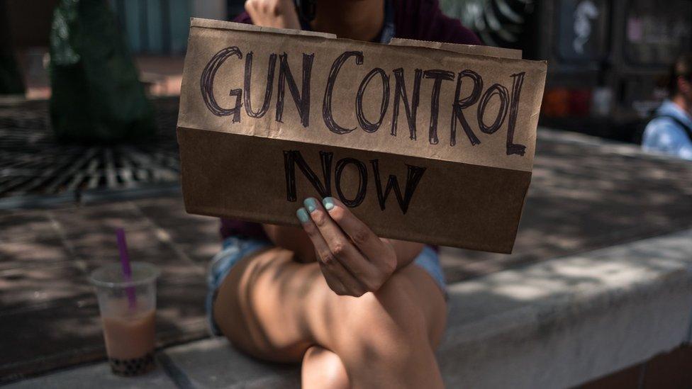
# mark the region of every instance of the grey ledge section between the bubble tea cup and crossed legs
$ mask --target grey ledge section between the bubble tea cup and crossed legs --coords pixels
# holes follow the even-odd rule
[[[299,388],[294,365],[263,363],[230,346],[223,337],[167,349],[165,354],[198,388]]]

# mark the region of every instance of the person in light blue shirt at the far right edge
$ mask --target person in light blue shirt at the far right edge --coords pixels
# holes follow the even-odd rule
[[[692,53],[671,67],[668,91],[669,99],[644,129],[642,147],[692,160]]]

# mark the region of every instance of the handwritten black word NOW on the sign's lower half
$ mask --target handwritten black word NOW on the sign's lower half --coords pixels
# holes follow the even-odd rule
[[[320,152],[320,162],[322,165],[322,178],[320,181],[315,171],[308,165],[308,163],[303,159],[303,155],[298,150],[284,150],[284,169],[286,173],[286,200],[295,202],[298,198],[296,193],[296,166],[301,170],[304,176],[310,181],[310,183],[315,187],[315,189],[320,193],[321,197],[332,196],[332,160],[333,152]],[[382,188],[382,181],[379,175],[379,159],[372,159],[370,166],[372,167],[372,174],[375,180],[375,190],[377,192],[377,200],[379,201],[379,207],[381,210],[385,209],[387,198],[389,193],[394,191],[396,196],[396,201],[398,202],[401,211],[406,214],[408,210],[408,204],[411,203],[411,198],[413,198],[413,192],[416,186],[423,178],[423,173],[425,173],[425,167],[416,167],[406,164],[408,167],[408,174],[406,175],[406,186],[404,186],[403,196],[401,196],[401,188],[399,188],[398,179],[394,174],[389,175],[387,184]],[[341,177],[347,165],[352,164],[358,171],[358,190],[356,191],[354,198],[347,198],[342,190]],[[364,162],[355,158],[342,158],[336,162],[336,167],[334,171],[334,186],[339,195],[339,199],[347,207],[353,208],[360,205],[365,199],[365,194],[367,193],[368,186],[368,172],[367,166]]]

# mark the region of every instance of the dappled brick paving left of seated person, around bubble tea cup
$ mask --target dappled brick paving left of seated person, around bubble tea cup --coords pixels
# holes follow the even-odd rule
[[[20,210],[1,216],[0,225],[0,380],[104,358],[86,276],[118,261],[118,226],[133,260],[162,270],[160,346],[206,335],[203,274],[220,247],[218,225],[186,215],[182,198]]]

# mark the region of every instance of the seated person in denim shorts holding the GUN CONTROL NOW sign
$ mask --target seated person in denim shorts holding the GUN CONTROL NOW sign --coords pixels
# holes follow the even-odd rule
[[[247,0],[236,21],[379,43],[479,44],[437,1],[313,5],[307,20],[294,1]],[[306,198],[296,216],[302,228],[222,220],[223,250],[208,276],[213,332],[259,359],[302,362],[303,388],[442,388],[434,349],[447,307],[437,249],[381,239],[331,197]]]

